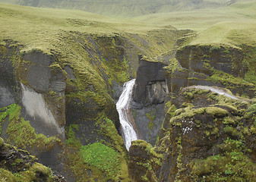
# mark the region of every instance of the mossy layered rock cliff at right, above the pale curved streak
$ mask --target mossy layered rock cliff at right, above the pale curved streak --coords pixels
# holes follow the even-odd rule
[[[254,97],[255,86],[243,80],[248,63],[242,49],[230,45],[185,45],[175,55],[178,67],[166,69],[169,92],[204,85],[228,88],[234,94]]]

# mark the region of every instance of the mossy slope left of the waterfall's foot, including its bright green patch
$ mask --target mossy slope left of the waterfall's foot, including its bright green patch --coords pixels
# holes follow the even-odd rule
[[[74,172],[77,181],[87,180],[91,171],[91,178],[98,180],[107,179],[128,181],[128,169],[123,148],[122,137],[119,136],[115,125],[105,114],[100,114],[96,119],[96,130],[99,135],[106,137],[106,140],[82,146],[81,138],[77,138],[75,132],[79,130],[79,125],[71,124],[68,127],[66,140],[68,165]],[[105,176],[105,177],[104,177]]]

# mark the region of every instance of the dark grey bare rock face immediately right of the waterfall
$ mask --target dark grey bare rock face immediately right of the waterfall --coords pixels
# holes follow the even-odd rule
[[[163,102],[168,93],[163,70],[167,64],[142,55],[138,58],[131,108],[140,138],[155,145],[163,122]]]

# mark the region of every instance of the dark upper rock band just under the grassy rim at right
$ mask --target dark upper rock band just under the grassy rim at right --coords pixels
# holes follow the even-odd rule
[[[211,68],[244,77],[248,67],[242,63],[242,49],[227,45],[186,45],[179,49],[176,58],[182,67],[210,76]]]

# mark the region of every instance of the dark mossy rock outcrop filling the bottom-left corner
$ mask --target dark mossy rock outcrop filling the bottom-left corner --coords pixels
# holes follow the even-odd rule
[[[4,143],[0,138],[0,180],[1,181],[66,181],[50,168],[38,163],[29,152]]]

